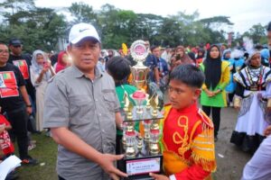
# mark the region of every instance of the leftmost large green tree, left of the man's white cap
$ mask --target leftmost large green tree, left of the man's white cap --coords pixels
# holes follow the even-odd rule
[[[66,31],[64,16],[50,8],[19,11],[7,17],[8,23],[0,28],[1,37],[5,41],[14,37],[23,40],[23,49],[28,52],[56,49],[59,37]]]

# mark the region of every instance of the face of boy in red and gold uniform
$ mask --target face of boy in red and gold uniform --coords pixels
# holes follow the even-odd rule
[[[173,79],[169,83],[169,99],[173,108],[182,110],[192,105],[201,94],[201,89],[191,87],[182,83],[182,81]]]

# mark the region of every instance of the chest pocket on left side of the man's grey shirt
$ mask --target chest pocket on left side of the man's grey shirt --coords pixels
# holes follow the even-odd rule
[[[94,111],[95,105],[89,94],[78,94],[70,97],[70,123],[89,123]]]

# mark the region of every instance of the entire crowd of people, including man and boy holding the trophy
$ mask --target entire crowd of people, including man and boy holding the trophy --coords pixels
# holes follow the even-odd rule
[[[271,49],[271,23],[267,33]],[[161,48],[145,40],[145,48],[145,91],[167,94],[170,102],[161,121],[164,175],[150,175],[158,180],[210,178],[217,168],[221,108],[229,105],[238,109],[229,141],[254,154],[242,179],[271,178],[268,47],[207,43]],[[87,23],[72,26],[69,46],[57,54],[41,49],[23,54],[21,40],[0,42],[1,159],[14,154],[16,141],[22,164],[36,165],[28,152],[35,148],[31,133],[45,130],[59,144],[60,180],[126,177],[115,161],[124,157],[119,149],[124,96],[133,102],[130,94],[138,90],[131,80],[135,64],[129,51],[101,49],[98,32]]]

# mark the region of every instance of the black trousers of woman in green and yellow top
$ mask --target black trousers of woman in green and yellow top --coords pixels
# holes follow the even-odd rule
[[[202,110],[208,116],[210,116],[210,112],[211,112],[211,118],[212,118],[213,125],[214,125],[214,135],[216,137],[219,133],[219,130],[220,130],[220,110],[221,110],[221,108],[202,105]]]

